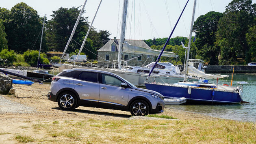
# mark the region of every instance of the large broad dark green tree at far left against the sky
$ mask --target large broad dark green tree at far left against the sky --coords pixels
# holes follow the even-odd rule
[[[43,26],[42,19],[32,7],[21,2],[11,8],[1,10],[4,18],[4,25],[7,33],[8,47],[16,52],[24,52],[28,48],[39,49],[40,39],[36,41]],[[36,43],[35,43],[36,41]],[[42,49],[47,50],[46,43],[43,43]]]

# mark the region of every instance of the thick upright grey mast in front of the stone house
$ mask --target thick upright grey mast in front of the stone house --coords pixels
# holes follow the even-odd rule
[[[119,48],[118,48],[118,69],[121,70],[121,55],[123,54],[123,43],[124,43],[124,36],[125,36],[125,27],[126,27],[126,17],[127,17],[127,7],[128,7],[128,0],[124,0],[123,6],[123,19],[121,25],[121,36],[119,41]]]

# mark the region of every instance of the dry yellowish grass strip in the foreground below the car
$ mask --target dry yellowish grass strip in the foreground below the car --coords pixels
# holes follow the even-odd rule
[[[234,120],[65,120],[31,129],[45,137],[34,142],[46,143],[256,143],[255,123]]]

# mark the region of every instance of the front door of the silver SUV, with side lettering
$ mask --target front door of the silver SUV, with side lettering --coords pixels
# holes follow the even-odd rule
[[[118,77],[101,74],[100,99],[99,102],[115,105],[127,105],[129,98],[129,88],[122,88]]]

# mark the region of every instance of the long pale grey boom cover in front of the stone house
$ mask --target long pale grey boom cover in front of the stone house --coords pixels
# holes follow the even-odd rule
[[[123,52],[131,53],[131,54],[151,55],[151,56],[159,56],[159,54],[161,53],[160,50],[133,46],[127,43],[126,41],[124,41],[124,44],[123,44]],[[173,52],[163,52],[162,56],[174,57],[174,58],[178,57],[178,55],[176,55]]]

